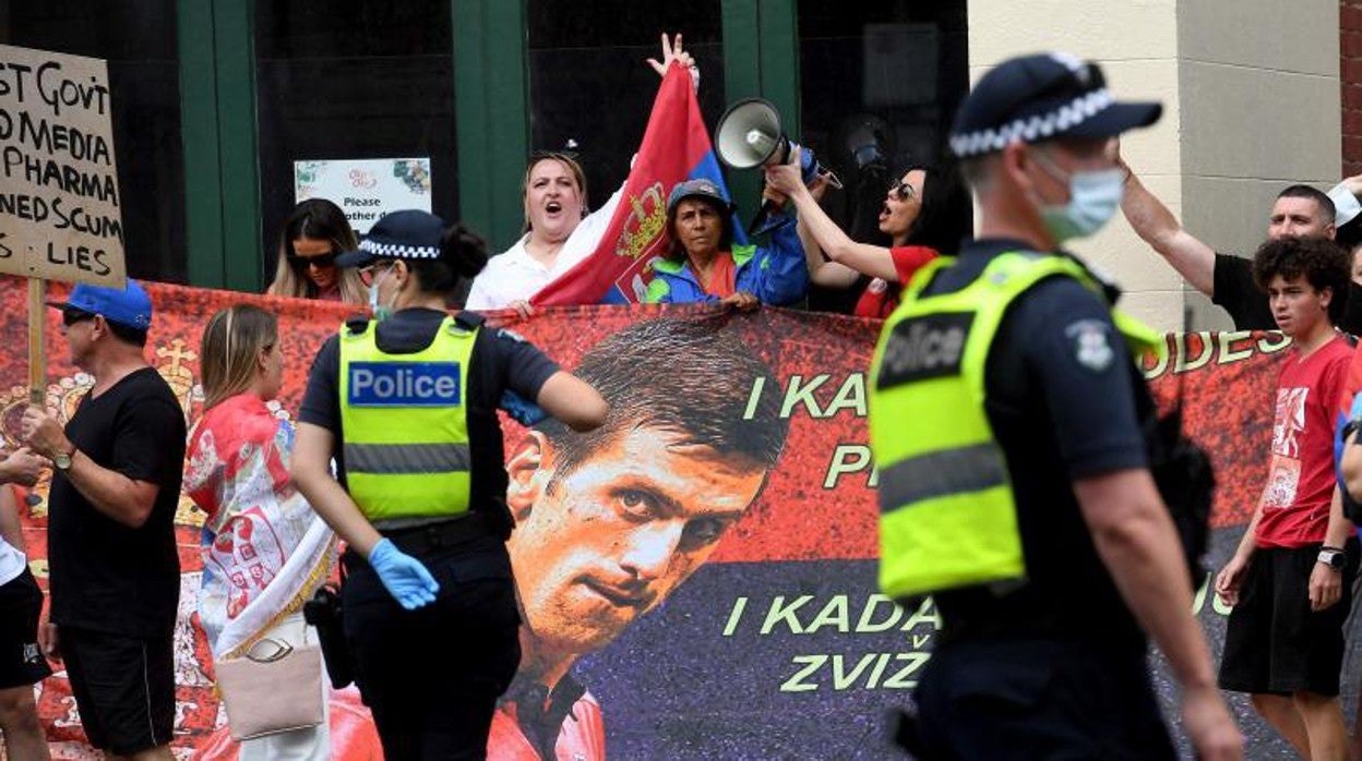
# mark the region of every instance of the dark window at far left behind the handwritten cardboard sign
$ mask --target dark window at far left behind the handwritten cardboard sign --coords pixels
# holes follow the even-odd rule
[[[0,41],[109,61],[128,275],[188,282],[174,0],[4,3]]]

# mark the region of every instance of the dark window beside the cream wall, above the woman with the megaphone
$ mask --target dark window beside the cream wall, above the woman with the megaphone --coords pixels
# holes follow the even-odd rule
[[[799,0],[801,137],[846,184],[823,206],[853,238],[888,245],[876,219],[889,180],[947,150],[967,44],[964,0]],[[816,291],[812,306],[843,312],[859,295]]]

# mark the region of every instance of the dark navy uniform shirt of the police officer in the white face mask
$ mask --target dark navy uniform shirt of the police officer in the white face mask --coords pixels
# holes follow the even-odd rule
[[[1017,241],[967,244],[928,294],[963,289]],[[1143,655],[1145,641],[1092,545],[1072,483],[1147,467],[1136,395],[1148,396],[1100,297],[1050,278],[1017,297],[985,365],[985,412],[1004,449],[1028,581],[934,596],[943,644],[996,637],[1080,637]]]

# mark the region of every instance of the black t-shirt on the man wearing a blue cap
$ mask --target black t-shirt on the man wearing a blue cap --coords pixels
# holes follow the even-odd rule
[[[138,528],[91,505],[60,471],[48,497],[52,622],[128,637],[166,636],[180,604],[174,513],[184,467],[184,410],[153,368],[86,395],[67,438],[95,464],[155,483]]]

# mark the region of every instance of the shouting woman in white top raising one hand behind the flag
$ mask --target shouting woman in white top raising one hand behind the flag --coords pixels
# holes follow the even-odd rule
[[[681,49],[681,35],[673,44],[662,35],[662,60],[648,59],[658,75],[665,75],[671,61],[691,69],[699,86],[700,75],[691,53]],[[601,244],[620,206],[624,185],[594,212],[587,212],[587,181],[582,166],[560,152],[537,152],[530,158],[520,187],[524,199],[524,236],[515,245],[493,256],[482,274],[473,280],[466,309],[513,308],[530,316],[530,297],[539,293]]]

